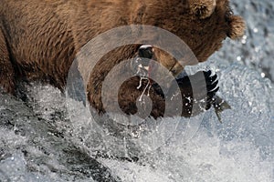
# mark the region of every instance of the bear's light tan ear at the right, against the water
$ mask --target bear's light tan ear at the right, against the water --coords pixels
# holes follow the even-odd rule
[[[227,36],[233,40],[245,34],[246,23],[241,16],[231,15],[228,18],[229,32]]]

